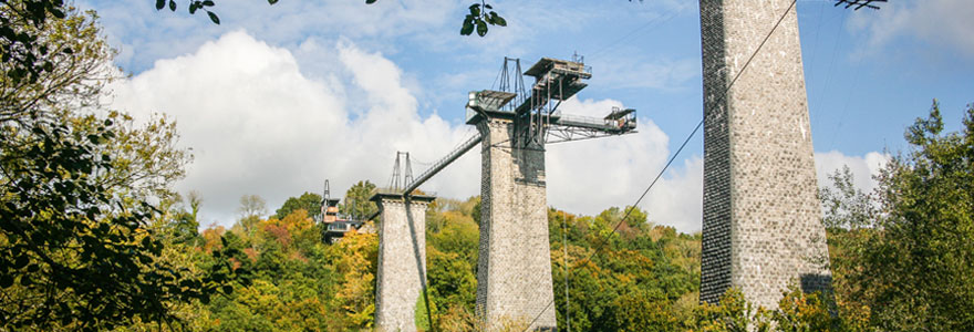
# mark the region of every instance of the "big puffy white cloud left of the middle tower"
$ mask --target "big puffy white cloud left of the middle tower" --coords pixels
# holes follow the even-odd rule
[[[289,51],[232,32],[120,82],[112,106],[178,122],[196,159],[176,188],[201,191],[207,224],[231,222],[245,194],[263,196],[273,209],[287,197],[319,191],[324,178],[340,194],[359,179],[382,185],[396,149],[432,156],[460,139],[462,128],[436,115],[418,117],[400,70],[381,54],[348,42],[331,52],[348,73],[310,80]],[[365,102],[350,103],[349,90],[362,91]],[[350,120],[349,104],[367,105],[364,116]],[[456,183],[475,188],[478,181]]]

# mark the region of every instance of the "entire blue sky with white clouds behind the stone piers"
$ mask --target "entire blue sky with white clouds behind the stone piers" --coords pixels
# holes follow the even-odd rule
[[[817,167],[849,164],[869,189],[932,98],[960,127],[974,102],[974,3],[831,3],[797,6]],[[438,158],[469,134],[466,93],[488,89],[504,56],[527,68],[578,52],[593,77],[566,112],[639,110],[639,134],[549,148],[549,204],[568,211],[631,205],[703,114],[696,1],[498,1],[509,27],[486,38],[458,34],[468,1],[221,0],[221,25],[152,4],[77,1],[99,11],[131,74],[113,107],[178,122],[196,160],[176,187],[203,193],[207,224],[230,225],[245,194],[272,212],[324,178],[339,191],[385,184],[395,151]],[[700,229],[702,147],[695,137],[641,204],[654,222]],[[425,189],[465,198],[478,183],[479,157],[467,155]]]

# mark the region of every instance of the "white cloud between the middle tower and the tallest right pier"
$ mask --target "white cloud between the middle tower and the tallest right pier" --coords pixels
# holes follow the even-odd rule
[[[566,114],[604,116],[622,103],[604,100],[568,100]],[[646,117],[639,118],[639,133],[618,137],[558,143],[548,146],[548,204],[594,215],[612,206],[635,203],[670,157],[670,137]],[[703,162],[686,159],[669,170],[640,204],[656,224],[681,231],[701,228]]]

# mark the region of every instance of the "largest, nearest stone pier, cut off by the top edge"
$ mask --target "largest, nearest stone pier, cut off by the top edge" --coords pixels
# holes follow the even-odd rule
[[[727,90],[790,3],[701,0],[702,301],[735,287],[770,309],[789,283],[829,288],[795,8]]]

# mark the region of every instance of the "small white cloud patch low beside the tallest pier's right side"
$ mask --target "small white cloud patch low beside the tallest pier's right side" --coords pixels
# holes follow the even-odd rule
[[[863,156],[847,156],[840,152],[818,152],[815,153],[815,168],[818,175],[819,187],[831,186],[829,175],[836,170],[841,170],[843,166],[848,166],[852,172],[853,185],[863,193],[872,193],[877,187],[873,178],[879,172],[885,167],[890,160],[890,155],[877,152],[868,153]]]

